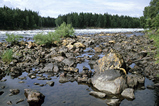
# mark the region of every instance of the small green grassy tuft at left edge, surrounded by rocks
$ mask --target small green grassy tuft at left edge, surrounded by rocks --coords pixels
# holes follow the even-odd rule
[[[2,61],[6,63],[10,63],[13,59],[13,51],[12,49],[4,51],[4,53],[1,56]]]

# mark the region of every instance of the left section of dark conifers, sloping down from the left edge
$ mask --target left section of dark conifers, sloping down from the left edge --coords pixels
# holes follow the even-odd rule
[[[35,29],[55,26],[55,18],[41,17],[38,12],[11,9],[7,6],[0,8],[0,29]]]

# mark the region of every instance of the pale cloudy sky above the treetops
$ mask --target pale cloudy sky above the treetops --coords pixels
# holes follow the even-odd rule
[[[41,16],[57,18],[71,12],[92,12],[140,17],[151,0],[0,0],[0,7],[8,6],[39,12]]]

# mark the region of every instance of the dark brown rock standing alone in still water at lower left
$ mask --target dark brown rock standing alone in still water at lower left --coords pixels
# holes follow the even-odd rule
[[[24,91],[29,106],[41,106],[43,104],[45,96],[42,93],[31,89],[24,89]]]

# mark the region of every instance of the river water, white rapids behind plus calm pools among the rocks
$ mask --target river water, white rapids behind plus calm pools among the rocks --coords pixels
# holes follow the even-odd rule
[[[93,34],[93,33],[117,33],[117,32],[132,32],[132,31],[142,31],[143,29],[84,29],[76,30],[76,34]],[[33,35],[37,33],[47,33],[50,30],[29,30],[29,31],[0,31],[0,39],[1,41],[4,40],[6,33],[14,33],[14,34],[20,34],[25,37],[33,37]],[[142,35],[142,33],[134,32],[133,34]],[[129,36],[129,35],[128,35]],[[81,56],[91,56],[91,53],[88,53],[87,50],[90,48],[87,48],[85,52]],[[100,54],[99,56],[103,56]],[[83,66],[88,67],[90,70],[91,66],[88,64],[88,60],[86,59],[83,63],[78,64],[77,68],[79,68],[79,71],[82,70]],[[133,66],[132,66],[133,67]],[[20,77],[27,77],[28,73],[24,72]],[[44,76],[50,76],[50,74],[44,74]],[[7,80],[5,82],[0,82],[0,91],[4,91],[2,95],[0,95],[0,105],[1,106],[7,106],[7,101],[12,101],[12,106],[28,106],[27,100],[24,96],[24,89],[35,89],[40,91],[45,95],[45,100],[42,106],[107,106],[106,100],[109,99],[109,97],[105,99],[96,98],[94,96],[89,95],[89,92],[93,90],[93,88],[86,84],[78,84],[76,81],[74,82],[67,82],[67,83],[60,83],[59,77],[56,77],[54,75],[51,76],[52,80],[55,84],[53,87],[50,87],[49,85],[45,85],[43,87],[39,87],[37,85],[34,85],[34,83],[40,83],[40,84],[46,84],[46,80],[38,80],[38,77],[35,79],[30,79],[27,77],[27,79],[24,79],[24,83],[19,83],[21,81],[18,78],[13,78],[10,75],[5,76],[2,80]],[[155,90],[147,89],[147,85],[153,85],[153,82],[151,80],[148,80],[146,78],[145,89],[136,89],[135,90],[135,99],[130,101],[127,99],[124,99],[121,101],[120,106],[154,106],[156,104],[156,101],[158,98],[156,97]],[[5,86],[5,89],[1,89],[2,86]],[[20,93],[18,95],[9,96],[10,92],[9,89],[19,89]],[[24,99],[23,102],[16,104],[16,102],[19,99]]]

